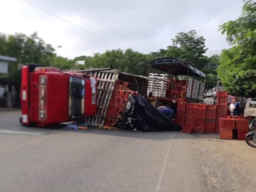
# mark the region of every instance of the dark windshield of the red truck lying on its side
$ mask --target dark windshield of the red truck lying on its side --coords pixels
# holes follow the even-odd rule
[[[69,78],[69,117],[84,116],[84,79],[71,76]]]

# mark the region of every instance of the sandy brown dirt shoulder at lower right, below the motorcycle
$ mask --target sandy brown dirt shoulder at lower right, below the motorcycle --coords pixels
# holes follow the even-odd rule
[[[242,140],[221,140],[219,134],[197,134],[195,157],[206,177],[209,191],[254,191],[256,152]],[[251,176],[248,176],[251,175]],[[250,177],[250,183],[248,181]]]

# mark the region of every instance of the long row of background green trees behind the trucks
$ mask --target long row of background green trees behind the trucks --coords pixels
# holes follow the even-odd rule
[[[172,45],[166,49],[143,54],[132,49],[106,50],[104,53],[94,53],[92,56],[81,55],[74,59],[68,59],[54,53],[50,44],[46,44],[37,33],[30,36],[16,33],[15,35],[0,34],[0,55],[11,56],[18,59],[19,64],[37,63],[44,66],[58,67],[61,70],[102,68],[113,65],[115,69],[136,75],[148,75],[147,64],[154,58],[174,56],[181,58],[194,67],[206,73],[209,80],[206,81],[207,88],[213,88],[216,84],[216,66],[218,55],[209,58],[205,56],[205,39],[197,35],[195,30],[180,32],[171,40]],[[85,66],[75,66],[77,61],[85,61]],[[209,69],[204,69],[204,68]],[[16,74],[16,75],[15,75]],[[20,74],[17,70],[10,73],[12,82],[20,82]]]

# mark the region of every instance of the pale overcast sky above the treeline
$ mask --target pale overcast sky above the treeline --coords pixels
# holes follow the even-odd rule
[[[32,5],[31,5],[32,4]],[[227,48],[218,26],[241,14],[242,0],[6,0],[0,32],[37,32],[68,58],[107,49],[149,53],[178,32],[197,30],[211,53]]]

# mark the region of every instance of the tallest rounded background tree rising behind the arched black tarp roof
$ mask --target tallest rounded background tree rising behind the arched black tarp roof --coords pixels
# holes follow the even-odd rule
[[[190,30],[187,33],[179,32],[172,39],[172,46],[168,47],[166,55],[181,58],[197,69],[203,69],[208,62],[204,56],[206,50],[204,37],[199,37],[195,30]]]

